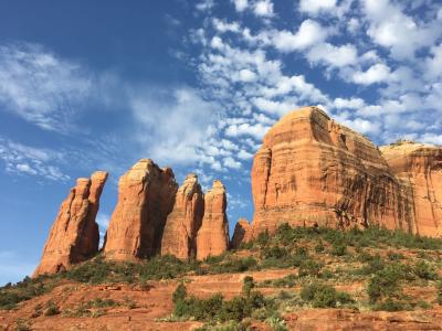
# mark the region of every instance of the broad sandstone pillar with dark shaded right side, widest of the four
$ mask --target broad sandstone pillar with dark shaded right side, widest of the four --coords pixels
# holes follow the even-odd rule
[[[143,159],[129,169],[119,179],[118,202],[106,234],[106,257],[130,260],[159,253],[177,190],[170,168],[160,169]]]

